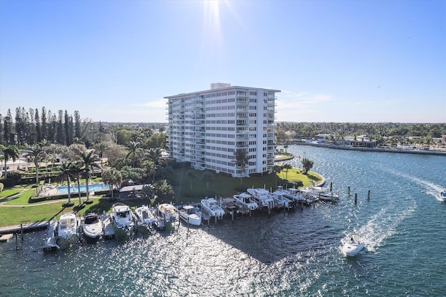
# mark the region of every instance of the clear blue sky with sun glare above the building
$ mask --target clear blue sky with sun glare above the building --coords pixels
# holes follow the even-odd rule
[[[210,83],[277,120],[446,122],[446,1],[0,1],[0,113],[167,122]]]

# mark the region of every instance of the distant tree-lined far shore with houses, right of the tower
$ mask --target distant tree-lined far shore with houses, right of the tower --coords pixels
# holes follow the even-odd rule
[[[337,122],[277,122],[277,144],[290,138],[310,139],[317,134],[330,134],[331,141],[341,141],[345,136],[367,134],[378,141],[384,138],[439,138],[446,135],[446,123],[337,123]]]

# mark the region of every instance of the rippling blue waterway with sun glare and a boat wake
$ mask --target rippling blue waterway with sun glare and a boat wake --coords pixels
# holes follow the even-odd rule
[[[314,161],[339,190],[338,204],[47,255],[44,232],[32,232],[17,251],[15,241],[0,244],[0,295],[445,296],[446,204],[436,198],[446,188],[445,156],[289,151]],[[347,259],[340,241],[353,230],[367,251]]]

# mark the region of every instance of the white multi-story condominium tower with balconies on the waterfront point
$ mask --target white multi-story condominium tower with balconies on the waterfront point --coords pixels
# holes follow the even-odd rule
[[[192,168],[233,177],[270,172],[279,92],[212,83],[210,90],[164,97],[169,105],[169,155],[189,161]],[[249,158],[244,170],[236,164],[237,150]]]

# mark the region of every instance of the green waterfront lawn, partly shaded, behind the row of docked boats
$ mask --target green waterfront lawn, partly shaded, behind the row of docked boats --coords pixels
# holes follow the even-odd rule
[[[243,177],[240,178],[229,177],[222,174],[213,174],[213,181],[209,183],[209,187],[206,182],[203,181],[204,171],[195,171],[196,177],[192,179],[192,191],[190,188],[190,179],[187,179],[186,172],[191,170],[190,168],[180,168],[174,172],[174,190],[176,193],[175,202],[176,204],[183,204],[187,202],[200,202],[204,197],[232,197],[232,195],[240,192],[245,192],[247,188],[267,188],[274,190],[276,185],[284,184],[287,178],[290,182],[302,181],[304,186],[312,184],[313,182],[317,184],[321,177],[318,177],[314,172],[309,172],[309,175],[302,175],[301,170],[293,168],[286,172],[279,172],[277,175],[269,174],[264,176],[256,177]],[[69,211],[75,211],[73,207],[63,208],[62,204],[67,202],[67,200],[56,200],[56,201],[45,201],[33,204],[28,204],[29,197],[33,195],[36,188],[32,186],[22,186],[15,187],[11,189],[3,190],[10,191],[9,193],[14,193],[17,191],[20,193],[23,189],[28,189],[20,195],[19,198],[6,202],[6,205],[0,205],[0,227],[5,227],[9,225],[20,225],[22,222],[41,222],[54,218],[59,218],[61,214],[67,213]],[[3,193],[2,192],[2,193]],[[8,193],[8,192],[6,192]],[[8,194],[9,195],[9,194]],[[2,196],[3,197],[3,196]],[[112,208],[113,201],[107,199],[93,198],[92,204],[86,204],[84,208],[78,211],[78,214],[83,216],[86,212],[94,211],[96,213],[102,213],[102,211],[109,212]],[[82,202],[85,198],[82,198]],[[79,204],[79,199],[77,197],[72,197],[72,202]],[[134,199],[125,200],[133,209],[140,206],[141,204],[149,204],[148,199]],[[26,206],[15,206],[15,205],[26,205]]]

